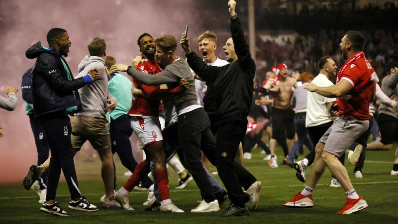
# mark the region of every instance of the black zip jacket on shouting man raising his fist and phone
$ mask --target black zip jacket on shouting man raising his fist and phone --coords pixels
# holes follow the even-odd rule
[[[231,18],[231,34],[238,60],[222,67],[208,66],[195,52],[187,54],[188,64],[206,82],[214,82],[219,123],[247,122],[253,98],[256,64],[251,57],[238,17]]]

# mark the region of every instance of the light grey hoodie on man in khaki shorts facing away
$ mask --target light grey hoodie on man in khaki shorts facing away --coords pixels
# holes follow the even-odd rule
[[[105,61],[97,56],[86,56],[80,62],[78,67],[79,75],[77,75],[75,79],[84,77],[93,68],[98,68],[100,70],[100,75],[91,85],[86,85],[79,89],[79,95],[84,112],[77,113],[76,115],[106,118],[106,100],[113,100],[116,104],[117,100],[112,97],[108,91],[108,78],[105,72]]]

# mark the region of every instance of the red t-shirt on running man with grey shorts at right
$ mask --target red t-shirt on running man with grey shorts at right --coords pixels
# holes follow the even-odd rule
[[[341,79],[348,79],[354,88],[347,96],[337,98],[340,114],[347,114],[361,120],[371,118],[369,104],[371,103],[374,83],[370,81],[375,72],[366,58],[360,58],[348,65]]]

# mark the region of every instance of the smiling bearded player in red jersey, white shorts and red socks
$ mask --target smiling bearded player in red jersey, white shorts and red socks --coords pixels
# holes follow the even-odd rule
[[[137,70],[152,75],[162,72],[162,69],[155,60],[156,49],[152,36],[148,33],[141,34],[138,38],[138,45],[140,53],[144,57],[144,62],[138,64]],[[147,86],[134,79],[133,84],[136,88],[141,89],[155,99],[156,96],[178,93],[180,90],[179,87],[167,90],[160,89],[160,86]],[[140,149],[144,149],[147,159],[137,165],[130,179],[114,194],[114,197],[124,209],[129,209],[128,195],[150,172],[150,159],[152,158],[154,162],[154,178],[156,179],[162,198],[160,210],[183,213],[184,211],[177,208],[170,200],[166,154],[158,114],[159,100],[139,96],[134,99],[128,115],[131,116],[131,127],[140,141]]]

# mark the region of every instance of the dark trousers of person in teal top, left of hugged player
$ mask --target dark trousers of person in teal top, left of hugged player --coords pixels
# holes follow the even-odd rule
[[[131,142],[129,139],[131,134],[133,133],[133,128],[130,124],[130,117],[127,114],[123,114],[116,119],[110,118],[109,133],[112,146],[112,154],[115,154],[115,152],[117,152],[121,164],[123,164],[123,166],[131,172],[134,172],[135,167],[138,165],[138,163],[134,159]],[[113,187],[114,189],[116,189],[116,170],[114,169],[114,171],[115,178]],[[153,182],[148,176],[145,176],[145,178],[142,180],[142,185],[145,188],[149,188],[151,185],[153,185]]]

